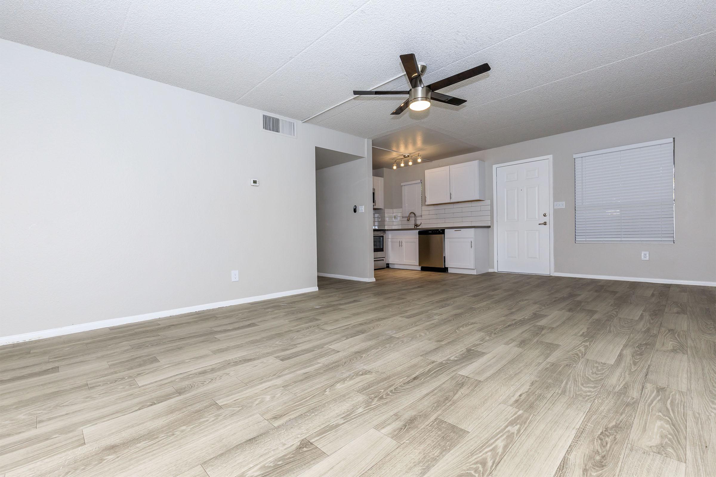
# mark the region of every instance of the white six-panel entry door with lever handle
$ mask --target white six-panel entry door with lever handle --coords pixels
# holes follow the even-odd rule
[[[549,159],[497,167],[498,272],[549,275]]]

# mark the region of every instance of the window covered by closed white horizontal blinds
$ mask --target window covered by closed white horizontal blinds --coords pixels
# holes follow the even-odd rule
[[[574,240],[674,242],[674,139],[574,154]]]

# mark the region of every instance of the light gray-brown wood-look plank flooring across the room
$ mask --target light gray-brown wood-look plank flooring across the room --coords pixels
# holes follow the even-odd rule
[[[716,289],[375,275],[0,347],[0,476],[716,476]]]

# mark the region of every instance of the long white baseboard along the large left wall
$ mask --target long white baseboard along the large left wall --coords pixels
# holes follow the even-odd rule
[[[241,305],[243,303],[271,300],[272,298],[287,297],[290,295],[299,295],[301,293],[317,291],[318,287],[308,287],[301,288],[299,290],[269,293],[268,295],[258,295],[256,297],[237,298],[236,300],[227,300],[224,302],[207,303],[205,305],[194,305],[185,308],[176,308],[175,310],[155,311],[153,313],[145,313],[143,315],[125,316],[124,318],[112,318],[110,320],[93,321],[91,323],[80,323],[79,325],[69,325],[63,326],[62,328],[53,328],[52,330],[42,330],[34,331],[32,333],[23,333],[21,335],[4,336],[0,338],[0,345],[21,343],[23,341],[41,340],[42,338],[53,338],[54,336],[72,335],[73,333],[82,333],[82,331],[99,330],[100,328],[109,328],[110,326],[126,325],[127,323],[137,323],[140,321],[155,320],[156,318],[166,318],[168,316],[183,315],[185,313],[192,313],[195,311],[213,310],[213,308],[223,308],[225,306]]]

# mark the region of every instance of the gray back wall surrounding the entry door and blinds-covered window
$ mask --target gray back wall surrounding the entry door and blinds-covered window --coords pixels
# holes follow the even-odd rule
[[[575,244],[574,159],[593,151],[674,137],[676,243]],[[492,165],[553,156],[554,270],[581,275],[716,281],[716,102],[533,139],[435,162],[384,169],[385,207],[401,207],[400,183],[425,180],[425,169],[482,159],[492,197]],[[490,234],[490,267],[493,264]],[[649,251],[649,261],[639,253]]]

